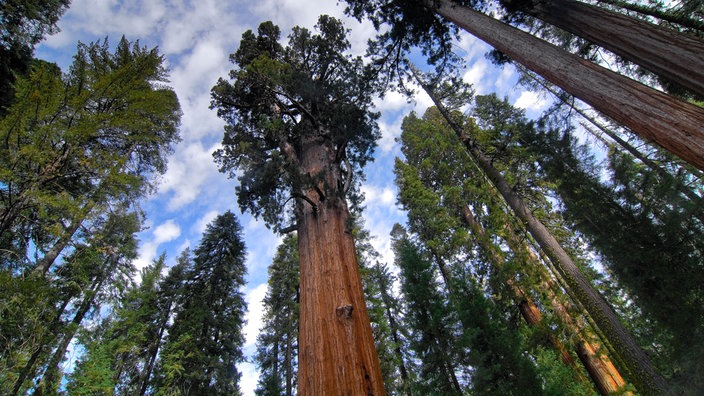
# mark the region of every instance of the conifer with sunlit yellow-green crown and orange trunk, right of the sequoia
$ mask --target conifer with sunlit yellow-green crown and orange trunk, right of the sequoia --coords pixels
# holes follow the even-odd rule
[[[481,97],[477,101],[481,102]],[[472,111],[476,114],[479,110],[475,108]],[[509,131],[530,126],[523,122],[520,112],[504,106],[496,106],[491,110],[485,108],[481,112],[496,117],[501,125],[495,126],[500,127],[505,135]],[[433,246],[438,255],[450,258],[458,255],[476,256],[472,260],[472,272],[482,277],[484,274],[489,275],[487,287],[490,290],[486,293],[493,296],[507,295],[508,298],[503,298],[507,301],[498,303],[517,306],[535,331],[544,332],[546,341],[556,349],[563,362],[574,370],[572,375],[582,386],[589,387],[589,384],[585,383],[586,378],[567,350],[570,341],[550,330],[551,318],[549,315],[544,317],[539,309],[545,304],[552,306],[559,316],[557,323],[569,334],[568,339],[575,340],[578,355],[602,394],[623,387],[625,382],[608,361],[603,348],[585,336],[588,334],[587,329],[574,325],[573,313],[566,309],[570,304],[564,298],[559,298],[561,293],[552,290],[554,287],[551,284],[554,285],[554,282],[547,271],[542,270],[543,263],[537,259],[532,248],[526,245],[524,236],[516,234],[515,230],[519,226],[514,224],[512,216],[504,212],[493,189],[477,173],[466,150],[459,147],[457,137],[449,130],[437,109],[429,109],[422,118],[413,114],[407,116],[402,128],[401,150],[405,159],[397,159],[394,171],[399,186],[399,201],[409,211],[411,229],[418,233],[427,246]],[[506,153],[500,153],[502,145],[499,142],[496,149],[491,150],[493,158],[507,157]],[[510,155],[518,156],[520,153],[512,152]],[[522,177],[519,180],[519,186],[524,183],[535,184],[534,181],[523,181]],[[537,202],[540,199],[531,197],[531,200]],[[464,287],[467,282],[473,280],[459,283]],[[470,288],[467,292],[472,290]],[[541,299],[541,295],[551,297]],[[456,298],[456,303],[466,304],[461,298]],[[593,352],[600,349],[602,352],[598,355]]]

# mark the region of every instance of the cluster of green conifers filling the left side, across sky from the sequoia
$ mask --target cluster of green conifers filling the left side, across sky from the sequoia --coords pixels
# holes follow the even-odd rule
[[[179,103],[164,58],[125,38],[79,43],[66,72],[33,59],[67,5],[0,10],[0,393],[237,394],[241,227],[227,212],[168,273],[163,256],[137,273]]]

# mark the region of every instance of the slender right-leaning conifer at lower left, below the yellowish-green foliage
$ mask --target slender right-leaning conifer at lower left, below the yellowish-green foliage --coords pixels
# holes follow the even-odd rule
[[[25,351],[28,356],[8,394],[19,394],[35,377],[38,383],[35,394],[56,392],[66,350],[81,323],[99,312],[103,303],[119,298],[131,282],[132,261],[137,256],[135,234],[139,226],[135,213],[125,210],[110,213],[90,238],[65,258],[58,269],[59,279],[52,285],[59,292],[58,298],[52,301],[56,306],[51,311],[51,320],[23,335],[37,338],[39,342]]]

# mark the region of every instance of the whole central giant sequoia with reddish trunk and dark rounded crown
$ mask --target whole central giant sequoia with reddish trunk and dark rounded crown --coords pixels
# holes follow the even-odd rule
[[[298,391],[384,394],[346,196],[379,135],[374,90],[342,23],[295,27],[286,47],[271,22],[243,34],[230,81],[212,90],[227,125],[215,159],[237,177],[238,202],[275,229],[295,221],[300,254]],[[292,203],[292,204],[291,204]]]

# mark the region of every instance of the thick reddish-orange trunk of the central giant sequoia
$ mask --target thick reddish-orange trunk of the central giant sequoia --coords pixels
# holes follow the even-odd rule
[[[301,151],[315,185],[297,202],[298,392],[385,395],[335,150],[319,135],[303,137]]]

